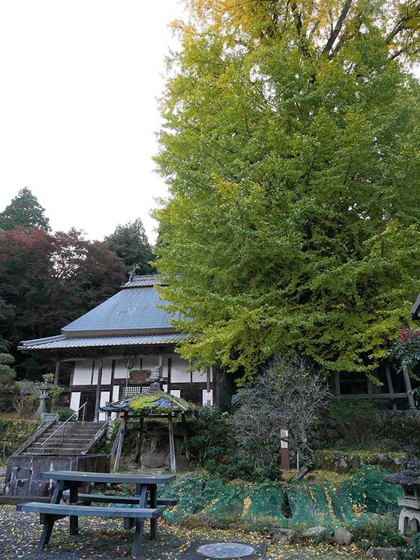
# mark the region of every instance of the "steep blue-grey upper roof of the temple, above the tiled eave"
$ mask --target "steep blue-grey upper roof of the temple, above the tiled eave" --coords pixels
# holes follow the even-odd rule
[[[76,321],[66,325],[62,332],[86,332],[118,330],[168,330],[172,328],[172,316],[158,306],[167,302],[160,300],[153,286],[157,276],[134,276],[122,290],[102,304],[88,311]],[[130,288],[130,289],[127,289]],[[97,334],[99,334],[99,332]]]

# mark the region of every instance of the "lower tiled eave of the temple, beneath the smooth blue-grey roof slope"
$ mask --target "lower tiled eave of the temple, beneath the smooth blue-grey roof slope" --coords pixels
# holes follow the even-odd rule
[[[35,340],[25,340],[23,350],[56,350],[66,348],[94,348],[95,346],[144,346],[147,344],[178,344],[186,335],[174,332],[165,335],[125,335],[115,337],[66,338],[64,335]]]

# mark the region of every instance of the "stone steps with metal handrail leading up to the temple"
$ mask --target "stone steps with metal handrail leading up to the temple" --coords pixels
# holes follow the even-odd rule
[[[39,437],[31,442],[29,447],[26,447],[21,455],[84,455],[94,447],[104,435],[106,430],[106,422],[80,422],[69,421],[64,426],[64,437],[62,430],[58,430],[55,435],[52,435],[57,428],[62,426],[62,422],[56,422],[45,430]],[[52,435],[51,439],[48,437]],[[45,450],[43,450],[43,442],[45,443]]]

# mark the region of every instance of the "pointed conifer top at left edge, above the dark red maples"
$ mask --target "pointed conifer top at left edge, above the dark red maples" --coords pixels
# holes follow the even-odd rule
[[[13,230],[19,226],[50,230],[45,209],[27,187],[21,188],[18,195],[0,213],[0,230]]]

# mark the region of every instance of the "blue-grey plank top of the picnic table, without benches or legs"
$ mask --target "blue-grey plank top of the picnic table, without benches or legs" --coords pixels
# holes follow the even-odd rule
[[[71,480],[73,482],[99,482],[102,484],[169,484],[176,479],[175,475],[128,475],[123,472],[82,472],[79,470],[50,470],[39,472],[38,478],[43,480]]]

